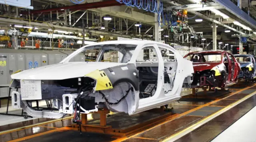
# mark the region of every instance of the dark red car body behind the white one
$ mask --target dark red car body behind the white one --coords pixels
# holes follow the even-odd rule
[[[226,51],[200,51],[184,56],[193,62],[192,88],[202,86],[224,88],[236,83],[240,72],[239,63]]]

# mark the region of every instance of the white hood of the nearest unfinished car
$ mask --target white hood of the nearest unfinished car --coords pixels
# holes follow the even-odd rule
[[[125,63],[115,62],[68,62],[32,68],[13,74],[12,79],[17,80],[64,80],[68,78],[83,77],[94,70],[102,70]]]

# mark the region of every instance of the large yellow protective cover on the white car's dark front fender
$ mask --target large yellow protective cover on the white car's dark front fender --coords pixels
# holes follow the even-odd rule
[[[93,72],[90,72],[89,74],[86,74],[86,76],[93,78],[97,81],[95,91],[113,88],[108,76],[104,71],[95,70]]]

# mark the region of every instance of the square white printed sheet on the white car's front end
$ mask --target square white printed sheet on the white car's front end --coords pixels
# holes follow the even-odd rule
[[[20,80],[21,100],[42,99],[41,80]]]

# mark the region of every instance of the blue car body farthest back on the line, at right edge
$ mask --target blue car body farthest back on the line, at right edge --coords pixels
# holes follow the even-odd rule
[[[236,54],[234,57],[239,62],[241,68],[239,78],[245,80],[252,80],[256,78],[255,56],[250,54]]]

